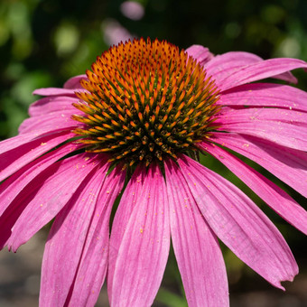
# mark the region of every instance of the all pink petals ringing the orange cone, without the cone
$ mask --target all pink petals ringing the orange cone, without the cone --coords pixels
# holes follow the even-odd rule
[[[240,155],[307,197],[307,93],[290,70],[295,59],[263,60],[247,52],[214,56],[186,51],[219,90],[217,128],[198,144],[283,219],[307,234],[307,212]],[[280,79],[265,83],[262,79]],[[172,242],[189,306],[228,306],[218,238],[270,284],[298,274],[293,254],[263,211],[225,178],[186,154],[127,177],[108,155],[87,153],[72,131],[82,124],[76,91],[41,88],[19,135],[0,143],[0,247],[16,251],[53,220],[42,261],[40,306],[94,306],[107,281],[112,307],[150,306]],[[261,82],[260,82],[261,81]],[[237,154],[240,155],[237,155]],[[126,179],[129,180],[126,182]],[[121,196],[110,228],[111,212]]]

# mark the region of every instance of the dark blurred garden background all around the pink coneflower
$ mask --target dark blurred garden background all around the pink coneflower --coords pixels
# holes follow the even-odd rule
[[[181,48],[201,44],[215,54],[250,51],[265,59],[307,60],[307,1],[1,0],[0,140],[17,133],[35,99],[35,88],[61,87],[66,79],[84,73],[110,45],[141,36],[164,39]],[[300,79],[297,86],[306,90],[307,74],[294,74]],[[301,269],[294,283],[285,284],[287,292],[283,293],[222,247],[231,305],[307,306],[305,237],[267,209],[225,168],[207,163],[246,191],[273,219]],[[306,204],[297,193],[277,183],[302,205]],[[37,305],[45,237],[42,232],[16,255],[0,253],[0,306]],[[107,305],[105,295],[103,291],[98,306]],[[186,306],[173,256],[155,306]]]

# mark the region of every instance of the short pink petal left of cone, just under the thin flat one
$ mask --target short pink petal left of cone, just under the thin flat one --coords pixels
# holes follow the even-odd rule
[[[70,111],[74,114],[77,111],[72,103],[78,103],[79,98],[66,96],[51,96],[35,101],[29,108],[30,116],[45,116],[52,112]]]

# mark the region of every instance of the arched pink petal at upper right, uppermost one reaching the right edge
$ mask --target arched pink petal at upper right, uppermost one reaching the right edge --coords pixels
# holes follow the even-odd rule
[[[210,63],[210,62],[209,62]],[[228,77],[219,82],[219,88],[226,90],[239,85],[250,83],[265,78],[272,78],[289,70],[307,68],[307,63],[296,59],[271,59],[255,62],[233,71]],[[213,76],[214,77],[214,76]]]

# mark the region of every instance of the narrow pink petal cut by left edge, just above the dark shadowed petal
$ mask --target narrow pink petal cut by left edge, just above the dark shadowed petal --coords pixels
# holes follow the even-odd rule
[[[60,148],[55,149],[51,153],[44,154],[32,163],[26,164],[18,172],[0,185],[0,216],[10,205],[14,198],[23,191],[30,181],[48,168],[52,163],[58,161],[66,154],[70,154],[74,150],[79,149],[77,144],[64,144]]]

